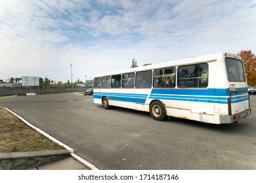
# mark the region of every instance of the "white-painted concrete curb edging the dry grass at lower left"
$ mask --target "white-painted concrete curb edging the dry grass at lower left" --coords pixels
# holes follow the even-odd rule
[[[18,114],[15,114],[14,112],[12,112],[11,110],[9,110],[9,108],[4,107],[6,110],[8,110],[9,112],[11,112],[12,114],[14,114],[15,116],[17,116],[20,120],[22,120],[22,122],[24,122],[25,124],[29,125],[30,127],[32,127],[33,129],[35,129],[35,131],[37,131],[38,133],[41,133],[42,135],[45,135],[45,137],[51,139],[51,141],[59,144],[60,146],[63,146],[64,148],[66,148],[66,150],[68,150],[70,152],[70,155],[73,156],[75,159],[77,159],[77,161],[80,161],[81,163],[83,163],[84,165],[86,165],[87,167],[89,167],[92,170],[98,170],[95,165],[89,163],[88,161],[86,161],[85,159],[77,156],[76,154],[74,154],[74,150],[72,148],[70,148],[69,146],[67,146],[66,144],[63,144],[62,142],[58,141],[57,139],[55,139],[54,137],[52,137],[51,135],[48,135],[47,133],[45,133],[44,131],[42,131],[41,129],[35,127],[34,125],[30,124],[29,122],[27,122],[26,120],[24,120],[24,118],[18,116]]]

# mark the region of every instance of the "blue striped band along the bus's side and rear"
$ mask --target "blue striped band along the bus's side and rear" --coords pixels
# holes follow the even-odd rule
[[[246,88],[237,88],[235,93],[231,93],[231,103],[247,101],[248,95],[244,94],[247,94]],[[102,99],[103,96],[107,96],[110,100],[128,101],[142,104],[146,103],[147,98],[173,101],[193,101],[203,103],[227,104],[230,92],[228,91],[228,89],[152,89],[152,92],[150,93],[149,96],[147,94],[137,93],[107,92],[95,92],[93,93],[93,96],[95,99]]]

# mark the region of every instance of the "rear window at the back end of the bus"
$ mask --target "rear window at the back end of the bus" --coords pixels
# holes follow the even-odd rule
[[[242,61],[238,59],[226,58],[226,72],[228,73],[228,81],[245,82],[245,73]]]

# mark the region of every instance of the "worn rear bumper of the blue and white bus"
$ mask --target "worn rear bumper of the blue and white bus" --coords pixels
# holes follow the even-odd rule
[[[246,118],[251,115],[251,108],[244,110],[243,112],[232,114],[232,115],[221,115],[220,122],[221,124],[232,124],[238,122],[242,118]]]

